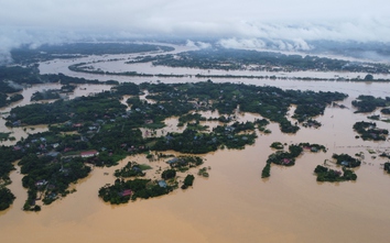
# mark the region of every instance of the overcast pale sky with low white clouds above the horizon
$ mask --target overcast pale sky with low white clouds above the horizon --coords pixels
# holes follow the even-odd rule
[[[91,36],[390,42],[389,10],[389,0],[0,0],[0,51]]]

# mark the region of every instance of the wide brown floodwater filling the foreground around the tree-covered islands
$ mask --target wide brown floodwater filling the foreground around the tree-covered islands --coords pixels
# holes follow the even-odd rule
[[[9,186],[17,199],[9,210],[0,213],[1,241],[388,242],[390,175],[381,168],[387,159],[378,155],[389,152],[389,141],[355,139],[353,124],[368,121],[368,114],[355,114],[350,104],[360,93],[389,96],[388,84],[269,80],[266,85],[272,84],[281,88],[347,92],[350,97],[340,103],[349,109],[327,108],[317,118],[323,126],[302,128],[295,135],[282,134],[278,124],[271,123],[268,129],[272,133],[259,133],[256,144],[243,151],[224,150],[202,155],[205,166],[212,167],[209,178],[196,176],[193,188],[123,206],[105,203],[97,197],[98,189],[113,183],[112,173],[124,166],[127,159],[149,163],[144,155],[123,159],[116,167],[94,168],[88,178],[75,185],[76,192],[44,206],[37,213],[21,210],[26,192],[18,168],[11,173],[13,183]],[[294,108],[291,109],[292,112]],[[243,118],[258,117],[243,114],[240,121]],[[177,119],[172,118],[167,123],[174,130]],[[377,125],[390,129],[390,123],[377,121]],[[273,153],[269,146],[277,141],[318,143],[328,152],[305,152],[289,168],[272,165],[271,177],[261,179],[266,161]],[[368,150],[376,154],[369,154]],[[314,168],[331,159],[333,153],[359,152],[365,159],[355,169],[356,181],[316,183]],[[156,162],[151,162],[152,166],[164,165],[153,163]]]

